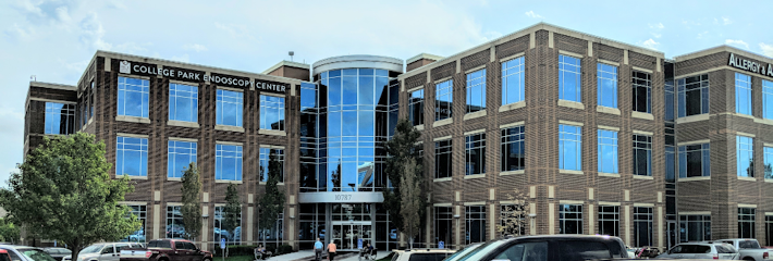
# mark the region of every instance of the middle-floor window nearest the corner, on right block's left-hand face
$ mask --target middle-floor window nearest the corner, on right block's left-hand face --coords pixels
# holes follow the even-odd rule
[[[502,172],[524,170],[526,166],[526,134],[524,126],[502,129]]]

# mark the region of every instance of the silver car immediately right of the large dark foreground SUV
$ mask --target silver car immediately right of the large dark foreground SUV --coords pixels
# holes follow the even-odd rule
[[[659,259],[737,260],[738,251],[724,243],[683,243],[658,256]]]

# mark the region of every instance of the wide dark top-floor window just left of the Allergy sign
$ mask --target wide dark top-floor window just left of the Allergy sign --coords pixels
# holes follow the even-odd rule
[[[677,79],[679,117],[709,113],[709,75]]]

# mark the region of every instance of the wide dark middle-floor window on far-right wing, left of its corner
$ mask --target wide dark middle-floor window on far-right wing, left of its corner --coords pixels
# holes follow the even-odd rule
[[[711,176],[709,144],[679,146],[679,177]]]

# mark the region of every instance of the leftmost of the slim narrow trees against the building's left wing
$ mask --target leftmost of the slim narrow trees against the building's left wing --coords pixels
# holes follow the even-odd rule
[[[183,171],[183,207],[180,209],[183,215],[183,227],[185,237],[194,240],[201,232],[201,178],[198,175],[198,167],[195,162],[191,162]]]

